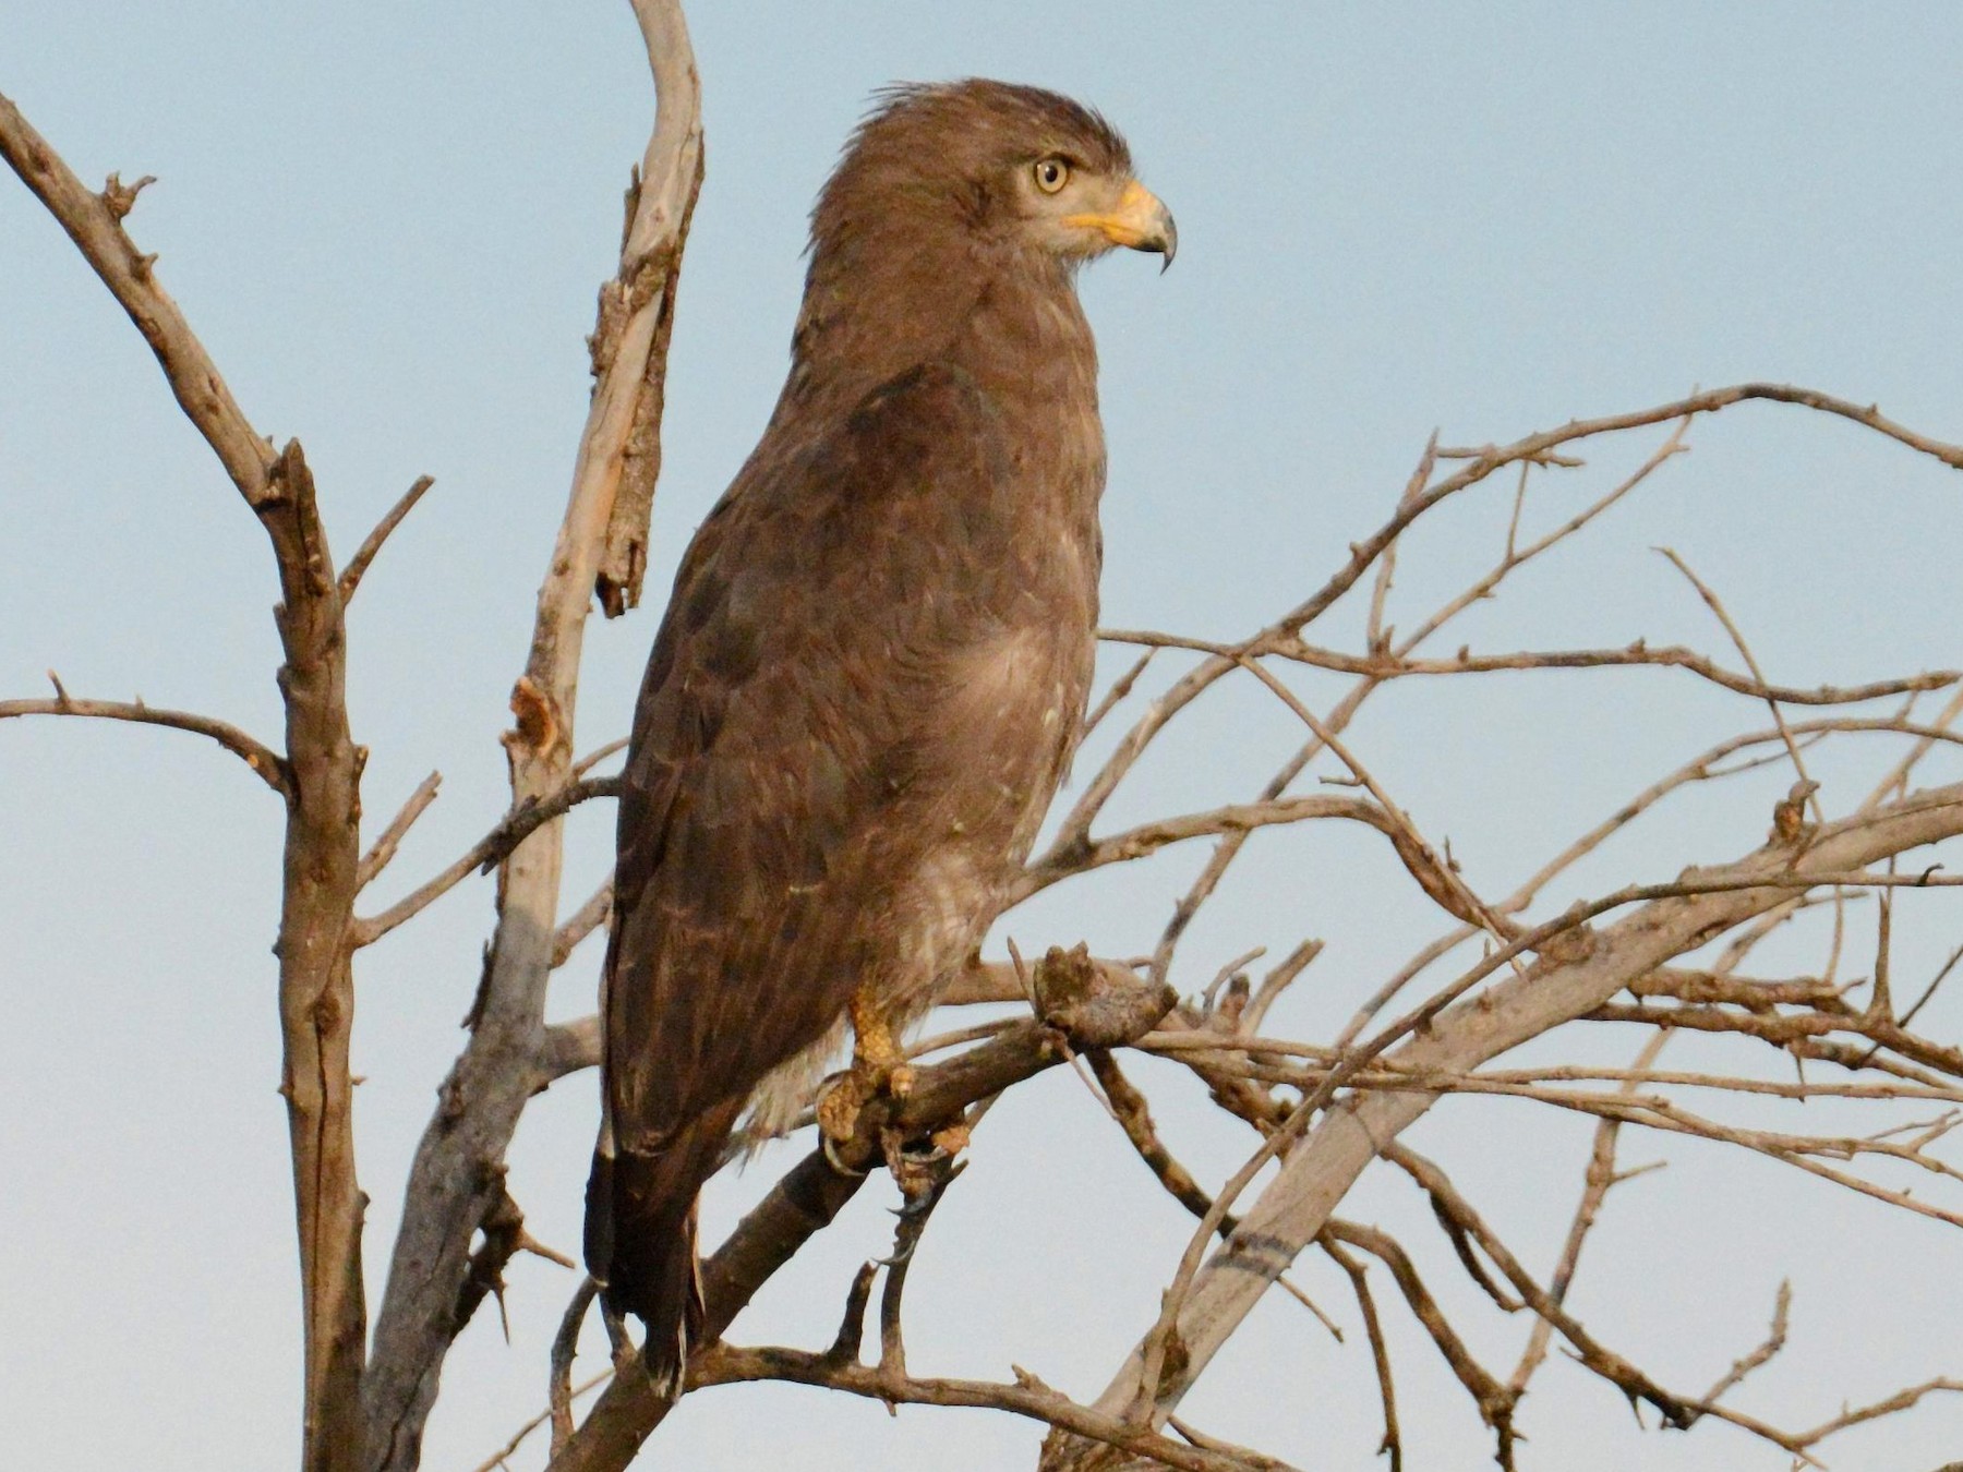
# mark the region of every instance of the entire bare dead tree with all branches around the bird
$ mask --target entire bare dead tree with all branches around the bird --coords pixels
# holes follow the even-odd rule
[[[157,724],[216,740],[239,756],[287,803],[283,907],[279,938],[279,1007],[285,1048],[281,1093],[287,1099],[294,1170],[294,1209],[300,1238],[304,1313],[304,1446],[306,1472],[410,1472],[420,1458],[424,1423],[438,1393],[450,1344],[485,1297],[503,1309],[503,1272],[516,1252],[571,1262],[534,1242],[504,1187],[504,1154],[528,1099],[554,1081],[591,1068],[601,1056],[597,1017],[546,1025],[550,972],[563,966],[610,911],[610,885],[601,885],[561,919],[559,818],[591,797],[610,795],[618,777],[591,771],[624,742],[609,742],[575,760],[573,726],[587,616],[597,599],[609,616],[640,601],[648,561],[648,518],[662,457],[665,359],[673,328],[675,287],[695,196],[703,179],[701,98],[693,53],[677,0],[632,0],[656,75],[656,124],[626,194],[616,275],[603,285],[597,326],[589,340],[595,393],[565,516],[538,591],[532,644],[512,691],[514,730],[503,740],[510,763],[510,809],[465,856],[430,877],[383,913],[357,919],[353,901],[397,856],[406,832],[436,797],[432,773],[365,854],[359,852],[359,779],[365,750],[353,746],[345,710],[345,608],[375,555],[428,491],[420,477],[336,573],[328,553],[312,475],[296,442],[283,449],[259,436],[234,402],[216,367],[183,314],[161,290],[153,257],[137,251],[124,232],[139,190],[110,175],[100,192],[86,190],[20,112],[0,98],[0,157],[27,183],[104,281],[149,342],[165,379],[210,444],[228,477],[259,516],[273,546],[283,603],[277,610],[285,667],[281,693],[287,752],[275,752],[218,720],[177,710],[151,710],[141,701],[73,701],[55,681],[53,701],[0,703],[0,720],[94,716]],[[1614,1384],[1631,1403],[1653,1405],[1667,1425],[1688,1427],[1724,1419],[1812,1462],[1822,1439],[1877,1417],[1914,1407],[1963,1382],[1928,1380],[1808,1431],[1784,1431],[1722,1405],[1741,1380],[1780,1352],[1786,1339],[1788,1295],[1780,1288],[1763,1342],[1733,1360],[1702,1397],[1682,1395],[1661,1378],[1610,1350],[1568,1309],[1584,1240],[1610,1187],[1637,1172],[1618,1172],[1618,1130],[1637,1125],[1684,1134],[1735,1150],[1751,1150],[1898,1209],[1963,1225],[1955,1203],[1963,1168],[1937,1152],[1937,1142],[1963,1125],[1963,1048],[1912,1030],[1924,1003],[1955,968],[1936,972],[1920,999],[1896,1015],[1890,968],[1894,889],[1957,887],[1963,877],[1930,866],[1896,873],[1894,856],[1963,834],[1963,783],[1908,795],[1916,765],[1934,750],[1963,742],[1953,724],[1963,718],[1963,673],[1930,671],[1902,679],[1814,689],[1771,685],[1718,595],[1690,567],[1667,553],[1690,579],[1733,640],[1745,673],[1710,656],[1680,648],[1551,648],[1457,657],[1419,657],[1447,624],[1460,618],[1500,585],[1555,546],[1596,524],[1665,463],[1686,449],[1700,414],[1745,400],[1786,402],[1861,424],[1896,444],[1963,469],[1963,449],[1930,440],[1881,416],[1873,406],[1784,385],[1739,385],[1714,393],[1527,436],[1512,446],[1441,447],[1437,434],[1404,485],[1394,516],[1364,542],[1311,597],[1280,620],[1241,642],[1209,642],[1156,632],[1107,632],[1111,642],[1142,646],[1089,712],[1095,728],[1129,699],[1160,650],[1182,650],[1190,667],[1146,703],[1117,740],[1076,807],[1064,815],[1050,850],[1021,875],[1015,899],[1058,879],[1111,864],[1148,858],[1188,838],[1211,838],[1211,854],[1178,899],[1148,960],[1093,962],[1084,948],[1052,950],[1035,979],[1015,966],[974,964],[946,995],[948,1003],[1019,1003],[1017,1013],[917,1042],[915,1087],[901,1099],[875,1099],[862,1113],[854,1138],[834,1160],[813,1152],[787,1170],[720,1248],[701,1264],[707,1339],[691,1358],[689,1390],[746,1380],[785,1380],[838,1393],[868,1395],[889,1407],[907,1403],[970,1405],[1023,1415],[1050,1427],[1042,1466],[1068,1468],[1282,1468],[1280,1462],[1184,1425],[1174,1407],[1225,1341],[1237,1333],[1270,1282],[1321,1311],[1286,1278],[1296,1256],[1317,1244],[1349,1276],[1368,1331],[1384,1405],[1384,1445],[1392,1472],[1404,1460],[1390,1342],[1378,1315],[1360,1252],[1378,1258],[1411,1313],[1470,1393],[1498,1437],[1498,1462],[1513,1466],[1513,1411],[1555,1335],[1584,1368]],[[1671,426],[1667,438],[1606,493],[1566,516],[1555,530],[1523,532],[1529,489],[1549,475],[1582,465],[1580,442],[1627,430]],[[1400,636],[1392,622],[1400,555],[1415,524],[1447,499],[1502,477],[1510,516],[1498,559],[1427,616],[1407,620]],[[1535,479],[1539,477],[1539,479]],[[1523,540],[1525,538],[1525,540]],[[1406,565],[1411,565],[1406,561]],[[1356,593],[1364,650],[1349,654],[1309,642],[1307,630],[1339,601]],[[1402,612],[1402,610],[1396,610]],[[1339,699],[1317,697],[1311,709],[1282,681],[1274,659],[1351,677]],[[1720,744],[1645,789],[1637,799],[1576,838],[1525,879],[1510,897],[1486,903],[1459,877],[1451,846],[1433,844],[1392,801],[1386,787],[1349,746],[1364,703],[1396,679],[1478,675],[1531,669],[1682,669],[1716,687],[1763,699],[1775,730]],[[1125,783],[1152,740],[1213,683],[1245,673],[1309,728],[1309,738],[1282,762],[1258,795],[1209,811],[1160,816],[1093,838],[1115,789]],[[1949,689],[1934,722],[1914,722],[1916,697]],[[1845,707],[1902,699],[1892,714],[1788,720],[1782,707]],[[1818,787],[1806,763],[1814,748],[1851,732],[1912,738],[1871,795],[1837,822],[1826,822]],[[1341,769],[1321,777],[1360,793],[1294,795],[1292,785],[1311,763],[1335,758]],[[1527,926],[1523,917],[1549,887],[1582,858],[1598,854],[1667,795],[1771,762],[1790,762],[1800,775],[1786,803],[1775,809],[1773,840],[1735,864],[1688,869],[1674,883],[1625,885],[1598,901]],[[1822,763],[1822,771],[1830,767]],[[1812,799],[1812,822],[1806,801]],[[1174,1007],[1164,985],[1174,952],[1190,922],[1211,901],[1252,832],[1321,818],[1364,822],[1394,846],[1419,889],[1459,920],[1459,926],[1417,952],[1362,1003],[1333,1042],[1292,1042],[1262,1034],[1276,997],[1313,962],[1321,942],[1303,942],[1256,987],[1245,968],[1248,950],[1219,968],[1203,995]],[[1886,862],[1888,871],[1869,866]],[[387,1291],[367,1346],[365,1282],[361,1268],[361,1195],[355,1178],[349,1074],[353,1021],[351,956],[459,885],[473,869],[499,869],[497,926],[471,1015],[469,1040],[444,1081],[406,1183]],[[1833,932],[1824,966],[1814,973],[1780,968],[1780,975],[1745,975],[1741,968],[1767,936],[1794,917],[1828,903],[1833,891]],[[1851,954],[1847,913],[1867,889],[1883,897],[1873,977],[1837,981],[1837,962]],[[1902,907],[1906,915],[1908,907]],[[1855,911],[1861,915],[1861,911]],[[1594,920],[1604,920],[1594,928]],[[1288,932],[1284,932],[1288,934]],[[1300,934],[1300,930],[1296,930]],[[1250,936],[1252,938],[1252,936]],[[1459,975],[1390,1023],[1380,1015],[1406,985],[1453,956],[1466,940],[1484,938],[1486,954],[1460,962]],[[1702,964],[1671,964],[1718,942]],[[1947,942],[1945,942],[1947,944]],[[1223,946],[1221,954],[1237,946]],[[1013,946],[1011,946],[1013,952]],[[1217,960],[1209,958],[1211,962]],[[1148,968],[1144,975],[1139,968]],[[1506,977],[1504,970],[1512,970]],[[1763,968],[1761,968],[1763,970]],[[1203,972],[1201,972],[1203,973]],[[1867,997],[1855,1001],[1867,985]],[[1627,995],[1621,995],[1627,993]],[[1488,1068],[1506,1050],[1566,1023],[1616,1023],[1651,1028],[1643,1054],[1629,1068],[1584,1068],[1559,1060],[1529,1068]],[[1735,1052],[1778,1070],[1777,1078],[1745,1072],[1659,1070],[1657,1050],[1676,1030],[1735,1038]],[[1146,1097],[1115,1056],[1137,1046],[1188,1068],[1213,1103],[1243,1119],[1258,1148],[1217,1193],[1172,1156],[1152,1121]],[[960,1052],[952,1052],[952,1050]],[[934,1380],[909,1374],[901,1337],[907,1262],[938,1189],[958,1172],[940,1158],[919,1164],[903,1146],[944,1129],[972,1127],[1009,1087],[1056,1062],[1088,1062],[1086,1083],[1109,1107],[1129,1144],[1162,1187],[1195,1219],[1186,1252],[1160,1299],[1156,1321],[1095,1405],[1080,1405],[1035,1376],[1017,1370],[1013,1382]],[[1833,1070],[1808,1072],[1810,1064]],[[1790,1078],[1788,1078],[1790,1070]],[[1845,1074],[1839,1070],[1847,1070]],[[1820,1074],[1826,1074],[1822,1078]],[[1592,1087],[1590,1087],[1592,1085]],[[1700,1091],[1720,1109],[1686,1109],[1682,1091]],[[1459,1193],[1451,1178],[1398,1142],[1425,1109],[1447,1095],[1478,1093],[1521,1105],[1584,1113],[1596,1121],[1596,1142],[1566,1242],[1551,1276],[1541,1282]],[[1733,1125],[1722,1107],[1741,1101],[1835,1099],[1859,1105],[1879,1121],[1861,1132],[1831,1134],[1839,1121],[1808,1117],[1822,1132]],[[1937,1105],[1939,1113],[1926,1111]],[[1916,1113],[1912,1105],[1924,1105]],[[1841,1113],[1841,1105],[1833,1107]],[[1851,1127],[1849,1127],[1851,1130]],[[1496,1380],[1470,1350],[1468,1335],[1447,1319],[1419,1262],[1388,1233],[1335,1217],[1335,1209],[1372,1160],[1388,1160],[1419,1183],[1457,1254],[1457,1266],[1504,1313],[1535,1319],[1525,1354],[1512,1380]],[[881,1297],[881,1350],[875,1366],[860,1362],[864,1319],[875,1270],[858,1272],[844,1323],[824,1352],[799,1348],[736,1348],[720,1344],[744,1305],[822,1231],[860,1189],[866,1172],[885,1162],[915,1211],[895,1233]],[[1936,1182],[1924,1199],[1896,1187],[1904,1166]],[[1272,1172],[1264,1187],[1256,1187]],[[1353,1250],[1356,1248],[1356,1250]],[[1449,1264],[1449,1260],[1447,1260]],[[1429,1270],[1425,1270],[1429,1274]],[[1382,1282],[1382,1280],[1378,1280]],[[1433,1280],[1435,1282],[1435,1280]],[[573,1295],[552,1344],[550,1407],[518,1429],[479,1472],[501,1466],[524,1439],[550,1421],[554,1472],[618,1472],[669,1409],[640,1372],[630,1348],[616,1341],[620,1374],[612,1370],[573,1390],[571,1368],[579,1331],[595,1299],[587,1280]],[[1449,1299],[1447,1299],[1449,1301]],[[1476,1305],[1482,1313],[1484,1303]],[[1323,1319],[1329,1325],[1327,1319]],[[1329,1325],[1337,1333],[1335,1325]],[[1341,1339],[1341,1333],[1337,1333]],[[585,1425],[573,1425],[573,1399],[612,1376]],[[1162,1435],[1170,1427],[1178,1437]]]

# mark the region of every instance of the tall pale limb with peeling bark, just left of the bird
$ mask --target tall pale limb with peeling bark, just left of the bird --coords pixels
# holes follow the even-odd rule
[[[506,732],[504,752],[514,816],[528,809],[538,813],[571,779],[587,608],[609,548],[616,546],[609,528],[622,483],[644,485],[652,495],[650,449],[665,375],[665,324],[701,184],[701,82],[679,0],[634,0],[634,16],[654,71],[656,124],[616,289],[601,294],[593,402],[565,518],[538,591],[532,648],[512,689],[516,728]],[[632,471],[630,459],[638,465]],[[646,512],[638,514],[644,522]],[[471,1009],[471,1038],[440,1089],[436,1117],[416,1150],[375,1323],[371,1366],[361,1386],[367,1472],[416,1466],[444,1354],[463,1327],[457,1311],[469,1282],[471,1235],[497,1203],[497,1170],[538,1078],[559,905],[561,824],[544,822],[514,838],[503,864],[499,920]],[[387,919],[363,926],[363,936],[381,934]]]

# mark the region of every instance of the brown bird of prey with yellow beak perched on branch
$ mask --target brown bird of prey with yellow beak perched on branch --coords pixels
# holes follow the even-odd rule
[[[675,1386],[695,1199],[746,1109],[909,1074],[1076,746],[1105,481],[1076,273],[1176,247],[1095,112],[897,86],[811,218],[791,373],[675,575],[620,795],[587,1266]]]

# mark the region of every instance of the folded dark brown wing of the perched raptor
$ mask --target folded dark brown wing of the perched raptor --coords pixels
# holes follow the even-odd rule
[[[614,1138],[658,1152],[817,1042],[927,852],[891,822],[1017,587],[997,410],[960,369],[773,426],[675,579],[634,718],[607,954]]]

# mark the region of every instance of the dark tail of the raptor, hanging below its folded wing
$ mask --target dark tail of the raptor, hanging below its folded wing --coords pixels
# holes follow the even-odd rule
[[[689,1346],[703,1339],[695,1201],[722,1160],[742,1101],[685,1125],[658,1152],[601,1138],[587,1178],[587,1272],[612,1313],[648,1327],[642,1362],[654,1388],[681,1393]]]

